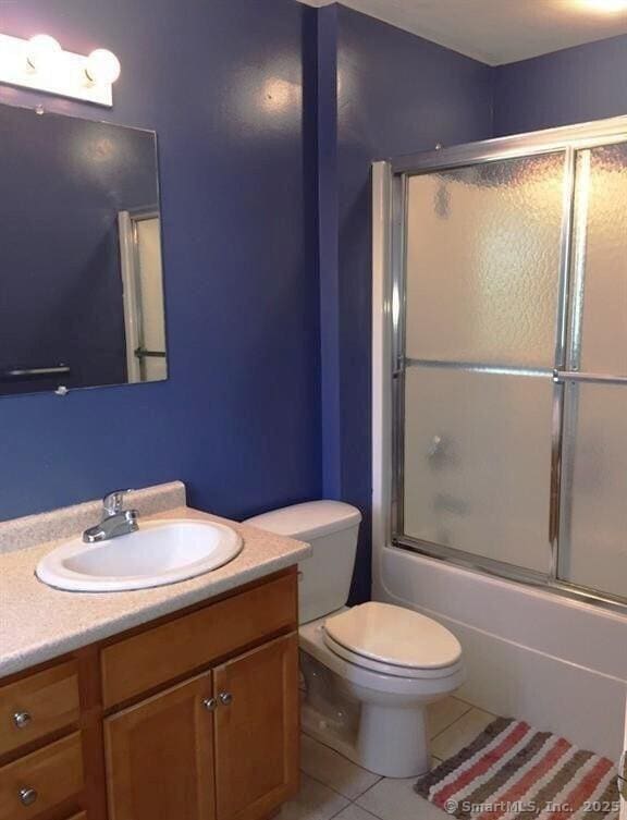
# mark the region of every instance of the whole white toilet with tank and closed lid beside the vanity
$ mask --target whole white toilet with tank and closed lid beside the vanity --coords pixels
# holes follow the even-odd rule
[[[246,523],[311,544],[299,565],[304,731],[365,769],[430,769],[425,707],[464,681],[462,647],[435,621],[389,603],[347,608],[361,514],[314,501]]]

